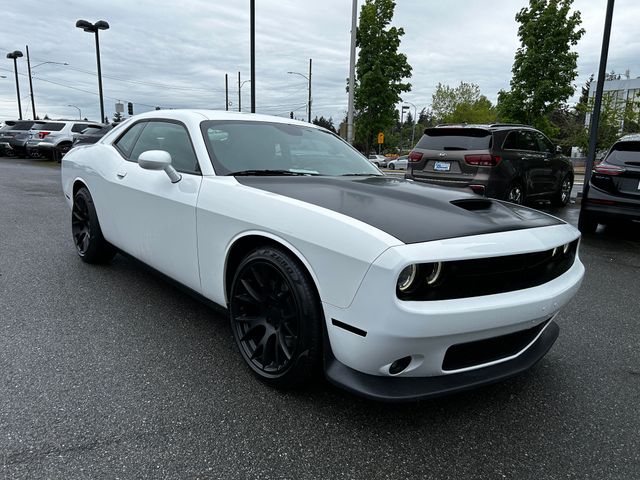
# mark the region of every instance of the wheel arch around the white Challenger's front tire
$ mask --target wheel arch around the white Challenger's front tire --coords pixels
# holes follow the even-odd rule
[[[229,291],[231,290],[231,282],[233,281],[233,274],[240,265],[242,259],[251,251],[258,247],[268,245],[281,248],[298,260],[309,274],[311,281],[315,287],[318,299],[322,299],[320,284],[318,277],[315,274],[310,263],[304,257],[304,255],[291,243],[287,242],[281,237],[272,233],[263,231],[248,231],[236,235],[230,242],[225,253],[223,281],[224,281],[224,298],[227,305],[229,304]]]

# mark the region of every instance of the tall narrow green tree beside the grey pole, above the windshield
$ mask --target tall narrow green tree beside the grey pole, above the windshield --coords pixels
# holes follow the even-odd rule
[[[365,0],[360,10],[354,103],[356,142],[365,152],[378,132],[395,124],[400,95],[411,89],[403,82],[411,77],[411,66],[398,52],[404,29],[389,26],[394,8],[393,0]]]

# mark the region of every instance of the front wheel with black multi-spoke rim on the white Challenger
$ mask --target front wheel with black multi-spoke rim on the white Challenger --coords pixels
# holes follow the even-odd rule
[[[236,270],[229,298],[236,344],[260,380],[291,388],[317,374],[322,309],[297,259],[275,247],[251,252]]]

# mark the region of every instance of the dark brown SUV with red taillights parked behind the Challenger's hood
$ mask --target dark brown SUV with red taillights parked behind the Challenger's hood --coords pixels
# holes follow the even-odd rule
[[[564,206],[574,175],[571,161],[543,133],[494,124],[427,128],[409,154],[406,178],[512,203],[547,199]]]

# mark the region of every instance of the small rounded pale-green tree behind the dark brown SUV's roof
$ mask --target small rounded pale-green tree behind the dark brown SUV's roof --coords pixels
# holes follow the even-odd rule
[[[455,88],[438,83],[431,109],[437,123],[492,123],[497,117],[491,101],[474,83],[460,82]]]

